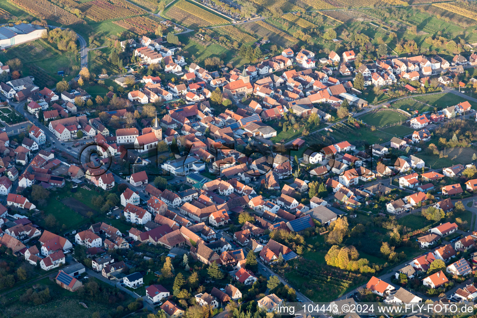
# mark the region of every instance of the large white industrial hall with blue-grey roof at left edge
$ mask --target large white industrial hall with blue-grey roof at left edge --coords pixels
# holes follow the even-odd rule
[[[46,29],[37,24],[20,23],[15,26],[0,27],[0,48],[40,39]]]

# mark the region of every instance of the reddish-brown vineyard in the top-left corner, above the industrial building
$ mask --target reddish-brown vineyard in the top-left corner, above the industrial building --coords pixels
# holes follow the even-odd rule
[[[9,2],[38,19],[47,19],[62,25],[86,23],[83,19],[47,0],[9,0]]]

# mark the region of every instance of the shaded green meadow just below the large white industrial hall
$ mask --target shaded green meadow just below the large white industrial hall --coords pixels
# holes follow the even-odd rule
[[[35,84],[40,86],[40,89],[60,82],[62,76],[57,75],[58,71],[64,71],[65,75],[76,75],[78,71],[73,71],[73,66],[76,65],[79,70],[80,65],[78,54],[58,51],[42,39],[0,52],[0,61],[6,62],[13,58],[19,58],[22,62],[21,75],[34,76]]]

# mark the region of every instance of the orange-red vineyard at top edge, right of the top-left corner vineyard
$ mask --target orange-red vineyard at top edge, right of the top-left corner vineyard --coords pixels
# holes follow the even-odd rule
[[[82,3],[74,0],[59,1],[70,8],[79,9],[87,18],[93,21],[111,20],[146,13],[145,10],[124,0],[91,0]]]

